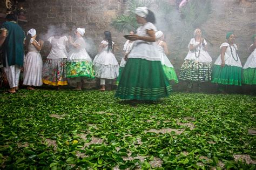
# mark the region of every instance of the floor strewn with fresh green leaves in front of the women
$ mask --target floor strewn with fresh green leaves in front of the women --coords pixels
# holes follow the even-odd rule
[[[255,96],[172,93],[139,104],[113,96],[1,93],[0,168],[256,168]]]

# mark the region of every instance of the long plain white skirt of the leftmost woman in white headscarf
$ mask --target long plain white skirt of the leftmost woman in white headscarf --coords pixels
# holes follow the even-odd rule
[[[28,52],[24,60],[23,84],[41,86],[43,61],[40,53]]]

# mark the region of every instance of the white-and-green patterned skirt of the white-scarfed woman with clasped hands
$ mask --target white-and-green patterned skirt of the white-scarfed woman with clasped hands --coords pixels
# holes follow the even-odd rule
[[[179,79],[201,82],[211,81],[211,73],[211,63],[185,60],[180,68]]]

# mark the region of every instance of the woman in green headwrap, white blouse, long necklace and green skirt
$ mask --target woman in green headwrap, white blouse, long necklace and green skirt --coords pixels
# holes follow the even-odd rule
[[[228,32],[227,43],[220,45],[220,56],[214,63],[212,70],[212,83],[219,85],[219,91],[226,93],[226,85],[241,86],[242,64],[234,44],[234,33]]]

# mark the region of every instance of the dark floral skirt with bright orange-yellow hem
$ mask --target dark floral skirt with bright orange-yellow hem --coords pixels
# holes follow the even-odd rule
[[[46,59],[42,76],[44,84],[52,86],[68,85],[66,80],[66,58]]]

